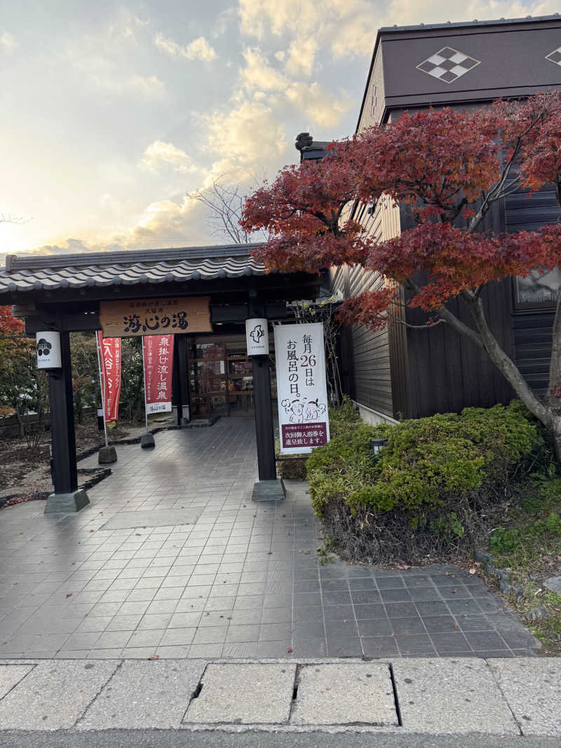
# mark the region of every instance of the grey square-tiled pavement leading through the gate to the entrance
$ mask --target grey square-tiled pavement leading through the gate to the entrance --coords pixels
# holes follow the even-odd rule
[[[456,567],[322,565],[304,484],[278,506],[251,503],[251,419],[117,453],[78,515],[1,511],[0,657],[533,654],[502,599]],[[194,525],[103,529],[117,513],[183,508],[200,511]]]

